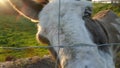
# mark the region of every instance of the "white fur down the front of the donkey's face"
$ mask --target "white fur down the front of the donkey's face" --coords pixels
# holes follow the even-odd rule
[[[85,0],[61,0],[60,26],[58,26],[58,2],[59,0],[51,1],[40,12],[38,26],[41,26],[41,31],[38,33],[48,38],[52,46],[80,43],[95,45],[82,19],[85,8],[91,7],[91,3]],[[54,49],[58,51],[58,48]],[[98,50],[97,47],[60,48],[59,59],[62,68],[114,68],[112,56]]]

